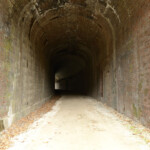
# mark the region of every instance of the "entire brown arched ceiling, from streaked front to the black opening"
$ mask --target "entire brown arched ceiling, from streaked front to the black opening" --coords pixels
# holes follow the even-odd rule
[[[100,64],[114,49],[114,31],[138,10],[135,0],[25,0],[11,1],[12,14],[29,35],[35,49],[49,58],[56,49],[78,47]],[[139,2],[140,3],[140,2]],[[142,3],[142,2],[141,2]],[[140,5],[139,5],[140,6]],[[21,12],[21,13],[20,13]],[[18,15],[17,14],[17,15]],[[126,19],[124,19],[126,18]]]

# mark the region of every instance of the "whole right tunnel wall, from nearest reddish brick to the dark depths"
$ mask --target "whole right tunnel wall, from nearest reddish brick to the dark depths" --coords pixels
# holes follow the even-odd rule
[[[120,21],[109,18],[115,35],[115,56],[103,69],[104,97],[101,100],[150,127],[150,3],[126,3],[128,8],[124,8],[124,2],[118,3],[118,8],[115,3],[112,5],[117,8]]]

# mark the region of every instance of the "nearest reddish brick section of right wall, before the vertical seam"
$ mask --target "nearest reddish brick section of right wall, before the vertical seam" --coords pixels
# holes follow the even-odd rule
[[[150,5],[143,4],[118,33],[118,109],[150,127]],[[120,39],[120,40],[119,40]]]

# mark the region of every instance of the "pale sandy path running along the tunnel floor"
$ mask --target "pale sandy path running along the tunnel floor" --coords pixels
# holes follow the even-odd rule
[[[150,150],[112,109],[84,96],[62,96],[12,141],[9,150]]]

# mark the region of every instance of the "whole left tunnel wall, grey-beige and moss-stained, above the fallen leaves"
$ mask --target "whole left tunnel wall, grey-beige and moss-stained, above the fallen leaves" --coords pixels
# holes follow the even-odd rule
[[[13,7],[0,2],[0,131],[52,96],[46,58],[29,39],[32,15]]]

